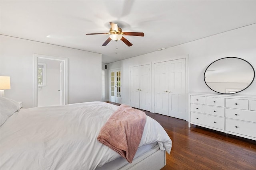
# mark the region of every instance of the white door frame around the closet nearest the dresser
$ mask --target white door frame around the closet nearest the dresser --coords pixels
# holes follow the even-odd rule
[[[188,55],[182,55],[182,56],[178,56],[178,57],[172,57],[170,58],[169,60],[161,60],[161,61],[154,61],[152,62],[152,112],[154,113],[155,111],[155,85],[154,85],[154,82],[155,82],[155,70],[154,70],[154,64],[155,63],[162,63],[162,62],[166,62],[166,61],[172,61],[172,60],[178,60],[178,59],[185,59],[185,63],[186,63],[186,78],[185,78],[185,86],[186,86],[186,121],[188,121]]]

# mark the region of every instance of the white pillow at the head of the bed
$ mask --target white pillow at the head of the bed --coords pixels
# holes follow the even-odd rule
[[[19,109],[20,104],[15,100],[0,97],[0,126]]]

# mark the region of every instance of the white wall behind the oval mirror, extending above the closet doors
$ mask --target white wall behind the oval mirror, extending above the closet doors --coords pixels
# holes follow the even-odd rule
[[[245,59],[256,69],[256,24],[234,29],[162,51],[155,51],[116,63],[110,63],[109,69],[122,67],[122,103],[130,104],[129,69],[131,66],[147,62],[168,61],[180,56],[188,56],[188,91],[210,92],[204,82],[204,71],[213,61],[224,57]],[[167,37],[168,38],[168,37]],[[170,40],[171,41],[171,40]],[[153,94],[153,93],[152,93]],[[239,94],[256,95],[256,80]],[[152,98],[154,100],[154,98]],[[154,104],[154,102],[152,102]]]

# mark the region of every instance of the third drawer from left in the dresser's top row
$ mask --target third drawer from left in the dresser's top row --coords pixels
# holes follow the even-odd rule
[[[234,109],[249,109],[249,101],[244,99],[226,99],[226,107]]]

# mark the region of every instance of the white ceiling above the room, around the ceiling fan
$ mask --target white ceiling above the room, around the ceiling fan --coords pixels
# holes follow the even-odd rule
[[[102,63],[256,23],[256,0],[1,0],[0,33],[102,54]],[[133,45],[102,44],[114,22]]]

